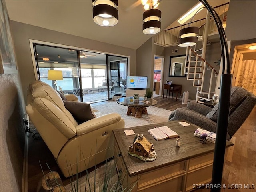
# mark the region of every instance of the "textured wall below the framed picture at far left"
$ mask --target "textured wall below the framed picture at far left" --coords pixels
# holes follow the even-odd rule
[[[1,110],[1,192],[18,192],[22,188],[25,131],[24,98],[19,74],[0,74]]]

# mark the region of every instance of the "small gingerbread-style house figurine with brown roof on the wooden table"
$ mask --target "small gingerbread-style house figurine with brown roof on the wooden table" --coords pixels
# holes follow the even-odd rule
[[[149,142],[143,134],[135,136],[133,143],[129,146],[128,153],[142,161],[154,161],[156,159],[153,143]]]

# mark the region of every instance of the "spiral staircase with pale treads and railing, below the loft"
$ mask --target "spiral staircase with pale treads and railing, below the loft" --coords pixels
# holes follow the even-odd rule
[[[202,51],[202,48],[194,51],[191,47],[187,47],[186,50],[186,67],[184,69],[184,73],[187,74],[187,80],[193,81],[193,86],[197,87],[196,93],[196,102],[201,100],[210,101],[214,92],[212,92],[212,87],[215,84],[212,84],[213,78],[218,76],[218,72],[212,67],[204,58],[202,58],[202,54],[198,54],[197,52]],[[206,84],[204,78],[206,74],[206,69],[210,69],[210,80],[209,83]],[[208,88],[207,90],[203,90],[203,88]]]

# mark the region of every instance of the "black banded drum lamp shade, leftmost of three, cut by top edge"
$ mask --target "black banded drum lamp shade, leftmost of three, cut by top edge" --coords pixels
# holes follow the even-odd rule
[[[114,26],[118,23],[118,1],[93,0],[93,20],[100,26]]]

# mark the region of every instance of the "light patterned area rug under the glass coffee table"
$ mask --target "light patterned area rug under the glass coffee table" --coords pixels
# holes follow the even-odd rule
[[[126,115],[128,108],[127,106],[120,105],[115,101],[93,107],[103,114],[108,114],[110,112],[120,114],[124,119],[125,128],[167,122],[168,117],[172,112],[166,109],[150,106],[147,107],[148,114],[143,114],[141,118],[135,118],[132,115]]]

